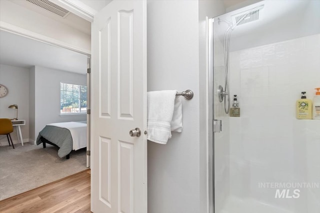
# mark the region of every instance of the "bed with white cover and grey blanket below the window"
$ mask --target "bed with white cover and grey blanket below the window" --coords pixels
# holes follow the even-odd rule
[[[69,159],[72,150],[86,147],[86,122],[63,122],[47,124],[36,139],[36,144],[58,147],[58,156]]]

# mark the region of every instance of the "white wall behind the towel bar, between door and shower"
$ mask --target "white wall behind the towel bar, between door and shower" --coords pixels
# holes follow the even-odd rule
[[[198,2],[147,1],[147,89],[194,92],[182,133],[148,142],[148,212],[199,212]]]

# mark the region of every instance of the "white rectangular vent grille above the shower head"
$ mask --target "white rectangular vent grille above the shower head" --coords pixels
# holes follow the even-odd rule
[[[244,12],[240,12],[234,15],[231,15],[232,19],[232,29],[235,26],[239,26],[241,24],[249,23],[259,19],[259,11],[263,8],[263,4],[256,6],[252,9],[246,10]]]

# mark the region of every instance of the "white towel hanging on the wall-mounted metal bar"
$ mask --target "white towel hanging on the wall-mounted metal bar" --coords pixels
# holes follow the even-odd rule
[[[147,92],[147,139],[166,144],[172,131],[182,130],[182,107],[176,90]],[[176,99],[176,101],[175,101]],[[176,115],[173,113],[176,112]],[[172,120],[173,118],[173,120]]]

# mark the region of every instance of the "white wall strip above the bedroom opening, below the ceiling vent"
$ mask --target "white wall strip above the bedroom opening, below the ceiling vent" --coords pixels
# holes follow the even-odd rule
[[[70,25],[34,12],[9,0],[0,0],[0,20],[1,24],[12,24],[13,26],[47,36],[68,46],[80,49],[83,52],[90,53],[90,34],[86,34]]]

